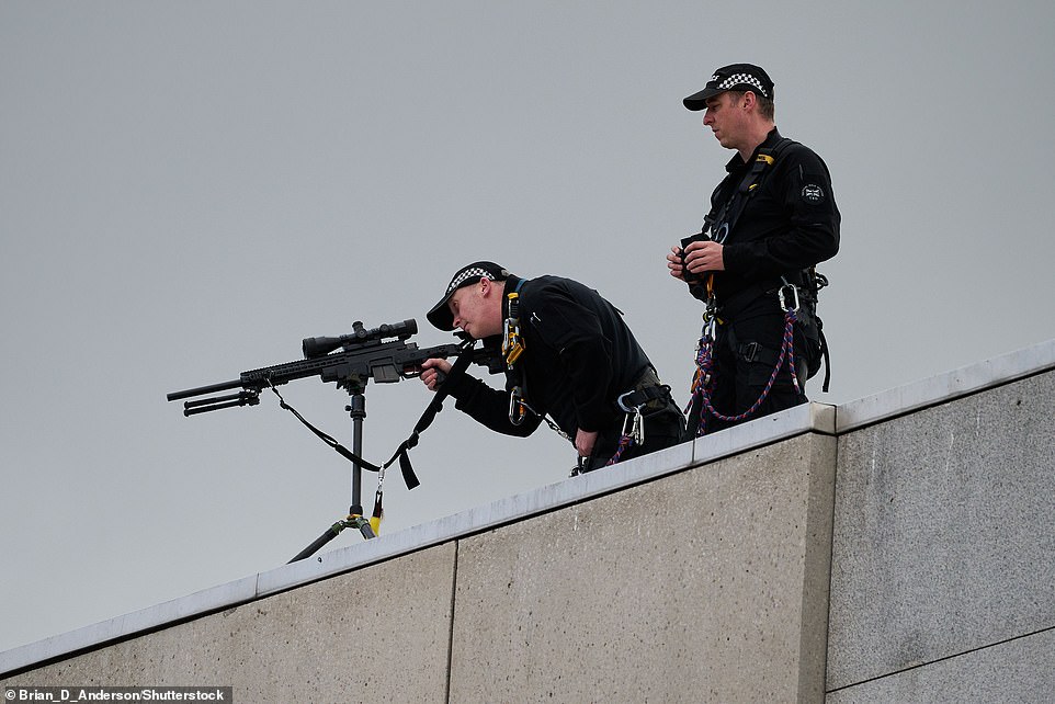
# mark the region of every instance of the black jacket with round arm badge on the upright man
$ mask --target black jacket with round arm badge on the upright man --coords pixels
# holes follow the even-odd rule
[[[719,303],[752,285],[779,285],[781,275],[802,283],[799,272],[835,257],[839,251],[839,208],[831,192],[828,167],[812,149],[784,140],[773,128],[745,163],[739,155],[726,164],[728,175],[711,196],[714,218],[729,202],[759,151],[772,151],[781,141],[775,162],[724,241],[725,271],[716,272],[714,291]],[[715,228],[721,223],[715,223]]]

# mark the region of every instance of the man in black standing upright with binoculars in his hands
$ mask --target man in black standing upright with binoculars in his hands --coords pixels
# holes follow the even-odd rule
[[[667,256],[671,275],[707,304],[689,413],[695,436],[806,402],[823,339],[813,266],[838,252],[840,216],[828,167],[778,133],[761,68],[719,68],[684,104],[705,110],[704,126],[737,152],[702,232]]]

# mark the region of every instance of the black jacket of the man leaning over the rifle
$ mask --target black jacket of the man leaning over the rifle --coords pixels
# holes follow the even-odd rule
[[[529,412],[520,425],[509,421],[509,389],[517,383],[509,372],[506,390],[467,374],[447,379],[456,408],[508,435],[530,435],[546,413],[571,438],[578,429],[601,431],[621,423],[616,398],[651,366],[622,314],[570,279],[510,276],[506,294],[518,285],[524,353],[515,366],[522,370],[525,400],[537,415]]]

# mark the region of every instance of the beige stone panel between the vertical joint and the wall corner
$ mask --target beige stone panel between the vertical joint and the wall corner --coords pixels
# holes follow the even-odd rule
[[[802,435],[466,538],[452,701],[821,701],[833,452]]]

